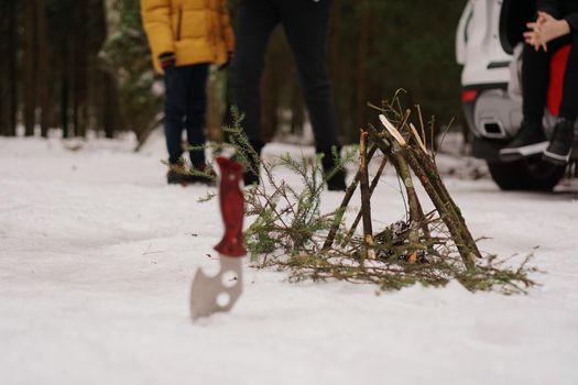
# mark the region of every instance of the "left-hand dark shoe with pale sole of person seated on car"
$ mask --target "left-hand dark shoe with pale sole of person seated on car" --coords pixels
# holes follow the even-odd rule
[[[542,153],[546,150],[548,140],[539,123],[522,122],[520,131],[512,141],[500,150],[500,161],[514,162],[523,157]]]

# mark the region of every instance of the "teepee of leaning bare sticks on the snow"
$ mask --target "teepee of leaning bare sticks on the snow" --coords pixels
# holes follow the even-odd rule
[[[461,261],[467,270],[471,272],[476,268],[476,260],[482,257],[481,253],[468,230],[460,209],[444,185],[434,156],[426,148],[424,139],[418,134],[414,124],[407,122],[408,116],[410,111],[406,112],[405,118],[401,121],[400,128],[396,128],[384,114],[380,114],[379,119],[383,125],[382,130],[370,127],[368,130],[361,130],[360,132],[359,170],[341,202],[341,208],[346,208],[355,190],[359,187],[361,193],[361,211],[348,232],[348,238],[352,235],[360,219],[362,219],[366,256],[370,260],[375,258],[375,238],[379,238],[379,235],[374,235],[372,231],[371,195],[381,178],[383,167],[386,163],[390,163],[403,180],[407,196],[408,222],[405,224],[405,232],[407,233],[408,244],[406,244],[405,254],[408,261],[415,262],[418,255],[427,253],[427,249],[435,243],[429,230],[429,223],[432,223],[429,218],[433,217],[434,212],[427,216],[424,213],[415,190],[413,178],[413,175],[415,175],[434,204],[437,218],[444,222],[451,235],[450,238],[460,254]],[[402,129],[407,133],[405,136],[401,133]],[[383,161],[370,185],[368,163],[378,152],[383,154]],[[331,248],[339,227],[339,220],[340,218],[334,221],[324,243],[324,250]]]

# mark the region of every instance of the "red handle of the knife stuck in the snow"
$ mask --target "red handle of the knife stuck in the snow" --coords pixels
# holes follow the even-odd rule
[[[215,250],[227,256],[243,256],[244,198],[241,190],[243,167],[229,158],[217,157],[221,178],[219,182],[219,204],[225,235]]]

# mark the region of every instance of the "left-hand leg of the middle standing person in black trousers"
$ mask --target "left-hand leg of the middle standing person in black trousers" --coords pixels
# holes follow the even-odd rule
[[[232,86],[235,103],[244,114],[243,127],[249,140],[261,139],[260,81],[269,36],[279,23],[272,0],[241,0],[236,28]]]

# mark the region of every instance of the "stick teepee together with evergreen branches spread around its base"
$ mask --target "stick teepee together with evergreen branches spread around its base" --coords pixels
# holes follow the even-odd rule
[[[435,154],[426,146],[419,108],[421,133],[410,122],[411,111],[384,105],[380,112],[379,129],[370,125],[360,130],[359,168],[332,212],[320,212],[324,180],[317,160],[297,161],[286,155],[272,163],[261,162],[261,183],[246,190],[247,215],[254,217],[246,243],[255,266],[288,270],[292,280],[373,283],[382,289],[415,283],[438,286],[456,279],[470,290],[498,288],[510,294],[524,293],[534,285],[527,275],[534,271],[526,267],[530,256],[512,268],[494,255],[480,253],[437,170]],[[228,133],[242,163],[251,166],[259,162],[239,119]],[[249,162],[250,157],[254,162]],[[373,158],[381,163],[370,180],[368,167]],[[404,186],[406,219],[374,231],[371,199],[388,164]],[[298,175],[303,189],[277,180],[273,168],[279,165]],[[428,212],[416,193],[416,178],[435,208]],[[361,208],[347,229],[345,215],[358,189]],[[357,232],[359,223],[362,235]]]

